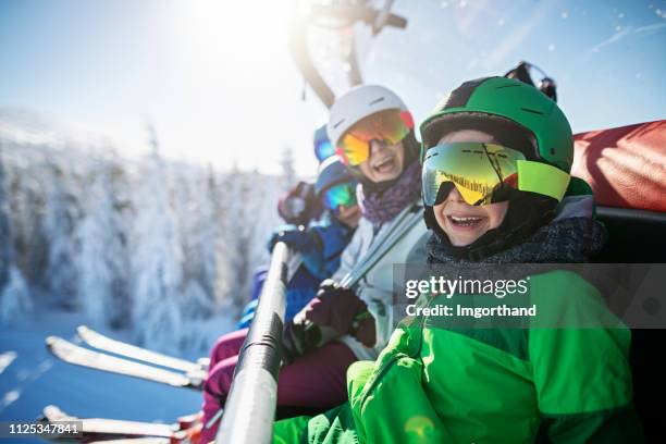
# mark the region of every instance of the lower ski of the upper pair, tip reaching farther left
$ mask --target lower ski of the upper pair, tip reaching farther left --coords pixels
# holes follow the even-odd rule
[[[164,370],[102,351],[91,350],[58,336],[47,337],[46,344],[52,355],[65,362],[176,387],[201,390],[203,379],[206,378],[206,372],[201,369],[190,372]]]

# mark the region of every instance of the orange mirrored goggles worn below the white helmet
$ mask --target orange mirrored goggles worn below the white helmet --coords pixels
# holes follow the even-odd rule
[[[372,140],[395,145],[412,128],[414,120],[408,111],[380,111],[354,124],[340,139],[335,152],[346,164],[355,166],[370,157]]]

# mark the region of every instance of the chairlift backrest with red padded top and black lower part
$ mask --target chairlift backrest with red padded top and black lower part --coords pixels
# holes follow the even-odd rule
[[[592,186],[608,231],[595,261],[666,262],[666,120],[581,133],[575,140],[572,175]],[[633,329],[631,341],[634,405],[645,442],[657,442],[666,421],[659,407],[666,399],[666,330]]]

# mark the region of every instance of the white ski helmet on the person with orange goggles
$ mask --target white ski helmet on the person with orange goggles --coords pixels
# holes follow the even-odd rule
[[[379,85],[360,85],[342,95],[333,107],[326,132],[334,147],[358,121],[375,112],[399,109],[408,111],[403,100],[391,89]]]

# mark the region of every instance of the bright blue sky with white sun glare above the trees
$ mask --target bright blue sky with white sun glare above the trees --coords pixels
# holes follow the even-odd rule
[[[174,158],[266,172],[291,146],[312,173],[326,112],[288,54],[274,0],[0,0],[0,108],[29,109],[146,149],[155,122]],[[665,118],[666,1],[396,0],[406,29],[357,27],[367,83],[404,97],[417,121],[459,83],[519,60],[558,83],[575,131]],[[313,50],[337,92],[323,38]]]

